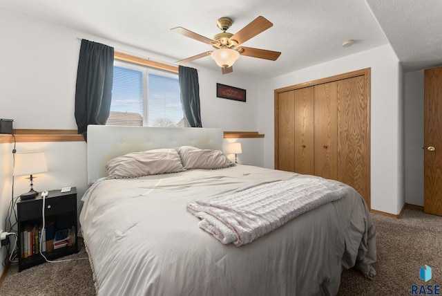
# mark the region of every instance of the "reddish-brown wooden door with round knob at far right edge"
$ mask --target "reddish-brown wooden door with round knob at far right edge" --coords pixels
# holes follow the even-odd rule
[[[442,216],[442,67],[424,71],[424,211]]]

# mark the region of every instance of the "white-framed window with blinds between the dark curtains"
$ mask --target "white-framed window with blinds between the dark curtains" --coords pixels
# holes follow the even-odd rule
[[[107,125],[188,127],[178,75],[115,60]]]

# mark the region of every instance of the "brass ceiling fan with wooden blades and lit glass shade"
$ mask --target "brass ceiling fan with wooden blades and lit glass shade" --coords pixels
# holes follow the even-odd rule
[[[172,28],[171,30],[178,34],[204,42],[205,44],[209,44],[215,48],[215,50],[209,50],[205,53],[200,53],[199,55],[182,59],[175,62],[175,64],[182,65],[187,62],[194,61],[195,59],[200,59],[201,57],[210,55],[212,59],[215,60],[216,64],[222,68],[222,74],[227,74],[233,71],[232,66],[240,55],[258,57],[260,59],[270,59],[271,61],[276,61],[276,59],[278,59],[281,54],[279,51],[240,46],[240,44],[243,44],[245,41],[255,37],[273,26],[273,24],[271,24],[270,21],[267,21],[265,17],[257,17],[247,26],[239,30],[236,34],[227,32],[232,24],[233,21],[229,17],[221,17],[218,19],[216,25],[222,30],[222,33],[213,36],[213,39],[204,37],[182,27]]]

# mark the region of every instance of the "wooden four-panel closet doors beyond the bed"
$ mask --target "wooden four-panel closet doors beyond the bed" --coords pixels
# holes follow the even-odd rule
[[[354,187],[370,207],[370,69],[275,90],[275,168]]]

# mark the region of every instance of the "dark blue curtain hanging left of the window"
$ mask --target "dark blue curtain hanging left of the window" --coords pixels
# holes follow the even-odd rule
[[[88,124],[106,124],[111,111],[113,47],[81,40],[75,91],[78,133],[87,140]]]

